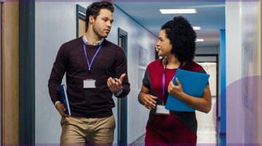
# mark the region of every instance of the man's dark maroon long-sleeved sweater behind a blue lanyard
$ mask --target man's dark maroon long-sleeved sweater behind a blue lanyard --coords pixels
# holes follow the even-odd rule
[[[99,46],[86,45],[87,58],[91,63]],[[49,95],[52,102],[62,101],[58,92],[63,75],[66,73],[68,100],[72,116],[84,118],[103,118],[113,115],[113,93],[109,90],[107,79],[112,76],[123,79],[123,92],[119,98],[130,92],[127,78],[127,59],[125,52],[116,44],[104,39],[99,53],[88,71],[87,59],[83,48],[82,37],[62,44],[49,78]],[[96,80],[95,89],[84,89],[83,80]]]

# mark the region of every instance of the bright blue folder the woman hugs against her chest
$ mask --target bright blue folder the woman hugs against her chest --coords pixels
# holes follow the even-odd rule
[[[204,88],[208,83],[209,75],[206,73],[196,73],[177,68],[173,80],[174,85],[177,85],[175,78],[180,81],[183,91],[187,93],[187,95],[191,95],[193,97],[202,97]],[[171,111],[195,111],[195,109],[189,107],[187,104],[180,101],[180,99],[177,99],[172,95],[168,95],[166,109]]]

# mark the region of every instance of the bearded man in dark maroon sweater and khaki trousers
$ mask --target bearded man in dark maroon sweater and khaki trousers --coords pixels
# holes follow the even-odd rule
[[[130,92],[123,49],[105,38],[113,23],[113,4],[87,7],[87,32],[61,46],[49,78],[49,94],[61,114],[61,144],[112,145],[116,127],[112,95]],[[66,73],[71,116],[61,103],[58,86]],[[116,78],[116,79],[113,79]]]

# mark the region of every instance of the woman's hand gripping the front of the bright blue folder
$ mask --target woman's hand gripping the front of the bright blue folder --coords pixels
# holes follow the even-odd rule
[[[173,97],[177,97],[178,99],[180,99],[184,94],[183,88],[182,85],[180,84],[180,81],[177,78],[175,78],[175,82],[177,83],[177,85],[174,85],[172,81],[169,83],[168,93]]]

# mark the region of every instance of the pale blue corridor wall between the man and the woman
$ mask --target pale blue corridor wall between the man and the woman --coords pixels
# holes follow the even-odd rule
[[[161,27],[161,26],[159,26]],[[112,42],[117,44],[117,28],[128,32],[127,45],[127,70],[130,81],[130,94],[127,97],[127,143],[134,142],[145,133],[146,121],[149,112],[137,101],[138,90],[138,57],[139,46],[148,51],[148,63],[154,61],[154,44],[157,38],[148,31],[135,23],[134,20],[127,17],[125,13],[116,8],[114,12],[113,28],[111,35],[108,37]],[[160,29],[160,28],[159,28]],[[115,98],[115,103],[117,103]],[[116,113],[114,108],[114,113]],[[116,115],[116,114],[115,114]],[[116,140],[116,138],[115,138]]]

